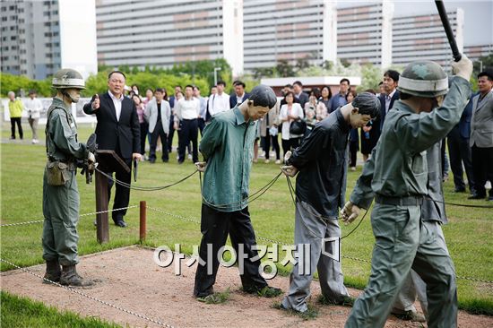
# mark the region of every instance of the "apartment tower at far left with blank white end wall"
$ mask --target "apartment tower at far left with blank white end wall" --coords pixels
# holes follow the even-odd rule
[[[3,73],[36,80],[62,67],[96,73],[94,1],[4,1],[0,17]]]

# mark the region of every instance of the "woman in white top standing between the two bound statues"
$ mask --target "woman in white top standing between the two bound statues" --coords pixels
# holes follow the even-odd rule
[[[294,102],[294,93],[292,91],[286,93],[284,100],[286,101],[286,104],[281,106],[279,119],[282,123],[282,151],[284,151],[285,154],[286,151],[290,151],[299,146],[299,140],[302,134],[290,134],[290,124],[295,120],[302,119],[304,114],[303,108],[301,108],[297,102]]]

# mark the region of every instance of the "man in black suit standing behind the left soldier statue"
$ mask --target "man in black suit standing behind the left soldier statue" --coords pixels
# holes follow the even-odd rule
[[[125,87],[125,74],[114,71],[108,74],[108,92],[96,94],[91,102],[84,105],[86,114],[95,114],[98,118],[96,134],[98,146],[101,150],[115,151],[132,168],[132,160],[141,159],[140,125],[137,118],[134,101],[123,95]],[[119,181],[130,185],[131,173],[118,168],[109,168],[106,173],[113,175]],[[108,180],[108,201],[113,180]],[[130,189],[117,184],[113,209],[125,208],[130,199]],[[111,216],[115,225],[125,228],[124,216],[126,209],[112,211]]]

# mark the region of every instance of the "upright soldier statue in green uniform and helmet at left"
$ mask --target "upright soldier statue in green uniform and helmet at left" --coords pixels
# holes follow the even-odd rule
[[[87,286],[75,270],[79,191],[76,161],[94,163],[94,155],[77,141],[77,126],[71,113],[72,103],[79,101],[85,89],[82,75],[63,69],[53,78],[57,93],[48,109],[46,145],[48,162],[43,177],[43,259],[47,262],[45,278],[63,285]],[[60,265],[62,268],[60,269]]]

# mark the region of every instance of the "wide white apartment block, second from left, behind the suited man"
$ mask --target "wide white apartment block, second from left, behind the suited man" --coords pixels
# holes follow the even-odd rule
[[[241,0],[97,0],[99,64],[171,67],[225,58],[243,71]]]

